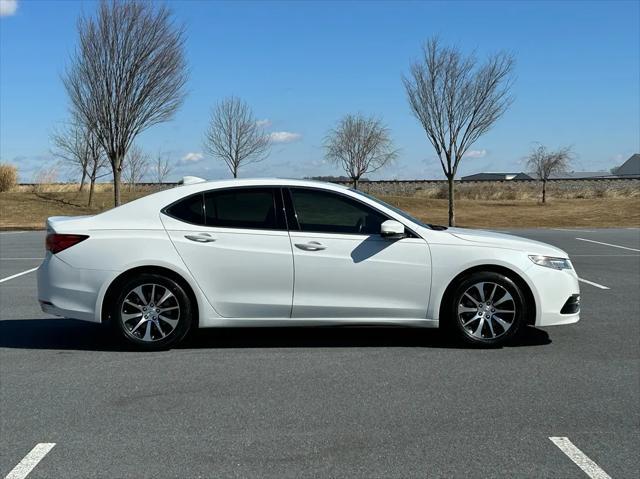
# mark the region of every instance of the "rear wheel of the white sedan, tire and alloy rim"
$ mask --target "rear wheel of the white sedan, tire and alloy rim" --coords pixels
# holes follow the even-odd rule
[[[142,273],[125,281],[111,310],[112,325],[136,349],[169,349],[193,322],[189,295],[173,279]]]

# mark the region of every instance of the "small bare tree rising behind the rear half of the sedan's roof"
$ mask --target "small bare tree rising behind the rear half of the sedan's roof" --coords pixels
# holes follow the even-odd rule
[[[204,149],[221,159],[234,178],[238,170],[269,156],[271,139],[251,108],[239,98],[226,98],[211,112]]]

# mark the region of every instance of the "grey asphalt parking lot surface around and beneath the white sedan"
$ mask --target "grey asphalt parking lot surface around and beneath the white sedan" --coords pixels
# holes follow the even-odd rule
[[[569,252],[578,324],[496,350],[333,328],[161,353],[40,312],[43,233],[0,233],[0,477],[639,477],[640,229],[511,232]]]

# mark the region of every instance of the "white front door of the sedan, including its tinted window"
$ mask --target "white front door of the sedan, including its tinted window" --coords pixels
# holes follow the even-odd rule
[[[346,195],[290,188],[295,264],[293,318],[425,318],[431,285],[426,242],[380,236],[389,219]]]

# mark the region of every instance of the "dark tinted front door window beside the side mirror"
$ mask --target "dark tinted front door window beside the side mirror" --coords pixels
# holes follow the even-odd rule
[[[293,204],[302,231],[379,234],[387,218],[345,196],[307,189],[292,189]]]

